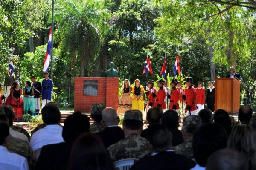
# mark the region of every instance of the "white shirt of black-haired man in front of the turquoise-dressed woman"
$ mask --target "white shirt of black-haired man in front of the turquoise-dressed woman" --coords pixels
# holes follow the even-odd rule
[[[64,142],[62,138],[62,127],[58,124],[51,124],[36,131],[32,135],[29,145],[35,152],[36,150],[41,149],[44,145],[58,144],[61,142]],[[38,156],[35,157],[38,158]]]

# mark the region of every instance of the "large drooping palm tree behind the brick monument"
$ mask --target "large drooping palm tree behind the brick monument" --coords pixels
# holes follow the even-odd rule
[[[99,55],[108,18],[107,10],[102,9],[102,1],[59,0],[56,3],[55,37],[61,42],[61,49],[72,57],[71,65],[78,56],[81,77],[86,63]]]

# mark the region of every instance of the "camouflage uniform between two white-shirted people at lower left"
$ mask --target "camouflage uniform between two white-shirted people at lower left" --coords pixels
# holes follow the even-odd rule
[[[7,150],[12,153],[17,153],[21,156],[24,156],[29,164],[29,169],[35,169],[35,157],[33,155],[33,151],[31,147],[29,147],[29,143],[23,141],[22,139],[12,137],[9,135],[9,141],[7,144]]]

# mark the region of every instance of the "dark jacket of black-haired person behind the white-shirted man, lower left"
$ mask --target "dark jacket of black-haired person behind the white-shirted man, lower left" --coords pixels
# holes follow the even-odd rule
[[[35,170],[67,170],[71,147],[66,142],[43,146]]]

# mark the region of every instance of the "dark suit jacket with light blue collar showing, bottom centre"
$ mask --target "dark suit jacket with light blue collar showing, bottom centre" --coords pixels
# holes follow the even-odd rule
[[[189,170],[192,167],[195,167],[195,162],[186,156],[160,152],[138,160],[130,170]]]

